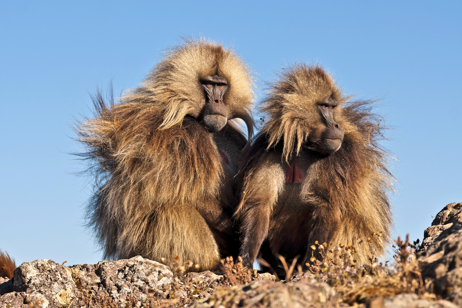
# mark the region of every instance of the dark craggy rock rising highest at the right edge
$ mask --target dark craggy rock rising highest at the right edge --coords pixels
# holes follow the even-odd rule
[[[422,276],[433,281],[435,293],[462,307],[462,203],[446,205],[426,235],[428,245],[417,253]]]

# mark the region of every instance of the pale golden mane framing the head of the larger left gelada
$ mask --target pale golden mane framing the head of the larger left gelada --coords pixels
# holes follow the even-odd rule
[[[249,73],[249,68],[231,49],[205,39],[189,39],[165,53],[141,86],[128,91],[123,100],[153,104],[163,114],[159,128],[166,129],[180,124],[185,115],[199,115],[205,104],[200,80],[218,74],[230,85],[224,97],[228,118],[243,119],[251,135],[253,81]]]

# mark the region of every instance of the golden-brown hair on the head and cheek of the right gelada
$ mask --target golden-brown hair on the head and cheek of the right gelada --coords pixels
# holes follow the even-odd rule
[[[302,63],[286,67],[262,102],[261,111],[268,120],[261,133],[267,135],[268,148],[283,139],[286,160],[294,152],[298,154],[310,135],[312,123],[319,122],[313,107],[328,97],[339,105],[343,102],[340,89],[321,66]]]

